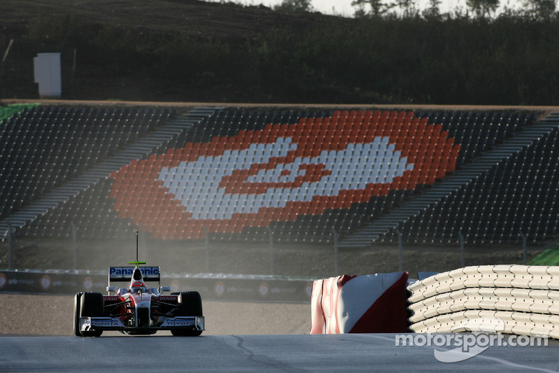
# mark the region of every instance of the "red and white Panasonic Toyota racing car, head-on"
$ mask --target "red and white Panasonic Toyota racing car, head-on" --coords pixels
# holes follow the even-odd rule
[[[198,336],[204,329],[202,300],[196,291],[170,293],[161,287],[159,267],[140,267],[145,262],[129,262],[134,267],[109,267],[108,295],[76,293],[73,332],[78,337],[99,337],[104,330],[126,335],[152,335],[170,330],[175,336]],[[111,286],[112,282],[130,281],[129,288]],[[157,288],[147,288],[157,281]],[[115,293],[115,295],[111,295]]]

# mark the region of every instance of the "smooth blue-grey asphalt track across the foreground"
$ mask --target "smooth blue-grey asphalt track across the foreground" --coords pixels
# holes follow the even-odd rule
[[[439,351],[447,348],[437,347]],[[441,363],[395,335],[0,337],[1,372],[556,372],[559,341]]]

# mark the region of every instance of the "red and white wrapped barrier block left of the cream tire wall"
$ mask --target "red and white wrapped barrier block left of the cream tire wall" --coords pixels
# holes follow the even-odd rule
[[[407,332],[407,272],[314,281],[311,334]]]

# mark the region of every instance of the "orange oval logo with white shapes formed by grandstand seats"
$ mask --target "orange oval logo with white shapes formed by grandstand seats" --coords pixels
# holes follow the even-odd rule
[[[110,197],[153,238],[203,238],[434,183],[459,148],[413,112],[300,118],[133,161],[111,174]]]

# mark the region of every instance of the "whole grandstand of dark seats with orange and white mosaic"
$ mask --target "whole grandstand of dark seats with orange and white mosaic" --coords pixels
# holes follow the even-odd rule
[[[29,105],[0,123],[0,232],[544,241],[558,231],[558,127],[528,110]]]

